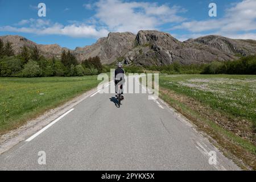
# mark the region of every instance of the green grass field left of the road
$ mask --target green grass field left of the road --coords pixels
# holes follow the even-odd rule
[[[98,85],[97,76],[0,78],[0,134]]]

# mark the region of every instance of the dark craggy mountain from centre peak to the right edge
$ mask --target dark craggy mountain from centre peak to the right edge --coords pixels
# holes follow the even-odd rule
[[[210,35],[185,42],[159,31],[139,31],[134,48],[125,55],[126,64],[167,65],[233,60],[237,55],[254,55],[256,41],[234,40]]]

